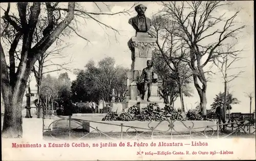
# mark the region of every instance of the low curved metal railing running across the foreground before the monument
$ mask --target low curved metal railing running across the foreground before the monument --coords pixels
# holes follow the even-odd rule
[[[148,134],[150,135],[149,138],[154,139],[155,137],[170,137],[173,139],[176,136],[186,136],[189,137],[189,139],[193,139],[196,137],[203,137],[206,139],[215,139],[215,138],[225,138],[231,135],[236,135],[238,136],[239,134],[245,134],[245,135],[251,135],[255,134],[255,120],[229,120],[227,123],[223,124],[216,124],[216,125],[209,125],[209,126],[202,126],[202,127],[194,127],[195,123],[193,121],[181,121],[181,120],[163,120],[159,121],[156,126],[152,126],[153,122],[149,122],[147,124],[147,127],[142,128],[142,127],[136,127],[136,126],[127,126],[124,125],[123,123],[120,124],[114,124],[113,123],[107,123],[107,122],[98,122],[98,121],[91,121],[91,120],[83,120],[83,119],[76,119],[72,118],[71,116],[69,117],[63,117],[63,116],[57,116],[55,113],[52,113],[54,116],[58,117],[58,120],[53,121],[48,128],[44,128],[45,124],[43,124],[43,130],[45,135],[50,135],[54,139],[59,139],[58,137],[54,136],[52,132],[57,132],[61,130],[68,130],[68,139],[83,139],[84,137],[89,136],[90,134],[99,134],[99,138],[103,135],[109,139],[124,139],[124,136],[126,136],[127,139],[138,139],[140,136],[143,134]],[[60,128],[58,129],[58,122],[60,121],[66,121],[66,127],[65,128]],[[75,123],[78,126],[74,126],[75,128],[72,128],[71,124]],[[157,127],[166,122],[168,124],[168,127],[166,130],[157,130]],[[177,131],[175,124],[180,122],[181,125],[185,127],[185,130],[182,131]],[[111,132],[103,132],[98,127],[92,127],[90,126],[90,123],[97,123],[97,124],[104,124],[104,125],[111,125],[111,126],[119,126],[120,127],[120,132],[115,132],[117,135],[115,137],[111,136]],[[155,122],[156,123],[156,122]],[[188,126],[190,124],[190,126]],[[55,125],[56,129],[51,130],[51,126]],[[228,129],[225,131],[222,131],[220,129],[220,126],[226,126]],[[82,128],[79,128],[82,127]],[[88,127],[89,129],[93,129],[92,131],[84,131]],[[126,131],[124,130],[126,128]],[[76,136],[76,138],[72,138],[71,135],[74,130],[77,129],[82,129],[83,132],[82,136]],[[203,130],[199,130],[203,129]],[[134,131],[131,131],[134,130]],[[113,133],[112,133],[113,134]],[[125,135],[126,134],[126,135]]]

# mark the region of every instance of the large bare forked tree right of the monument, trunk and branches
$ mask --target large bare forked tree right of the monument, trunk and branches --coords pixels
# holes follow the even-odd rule
[[[200,96],[201,111],[206,116],[206,74],[205,66],[216,56],[223,53],[219,49],[234,39],[245,27],[237,25],[236,17],[239,11],[227,17],[220,15],[222,7],[230,5],[219,1],[163,2],[163,16],[172,22],[180,32],[176,32],[183,47],[188,50],[189,58],[181,57],[187,62],[193,72],[194,85]],[[239,51],[233,51],[236,53]]]

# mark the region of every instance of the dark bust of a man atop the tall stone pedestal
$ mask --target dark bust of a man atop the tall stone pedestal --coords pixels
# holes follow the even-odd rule
[[[133,28],[136,30],[136,33],[147,32],[152,26],[151,19],[145,16],[146,9],[146,6],[142,4],[136,6],[135,10],[138,15],[129,19],[129,24],[133,26]]]

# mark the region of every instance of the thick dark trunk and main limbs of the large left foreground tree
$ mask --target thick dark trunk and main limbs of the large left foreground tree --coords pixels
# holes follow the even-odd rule
[[[69,2],[68,14],[57,27],[48,36],[44,36],[41,40],[32,45],[32,37],[36,28],[38,15],[40,13],[40,3],[34,3],[30,8],[30,20],[27,30],[23,33],[23,47],[21,53],[21,60],[19,62],[15,77],[10,76],[7,70],[7,63],[5,59],[4,50],[1,46],[1,91],[5,102],[5,115],[2,130],[2,136],[17,137],[22,134],[22,101],[26,89],[28,77],[31,73],[32,67],[41,54],[43,54],[57,39],[61,32],[74,19],[75,3]],[[21,16],[21,15],[20,15]],[[25,16],[26,18],[26,16]],[[10,64],[12,65],[12,64]]]

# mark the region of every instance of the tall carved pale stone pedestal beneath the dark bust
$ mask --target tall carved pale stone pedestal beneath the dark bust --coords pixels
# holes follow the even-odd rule
[[[138,83],[143,68],[147,66],[147,60],[152,60],[152,50],[154,49],[155,42],[156,38],[150,38],[147,33],[137,33],[136,37],[132,37],[128,42],[129,49],[132,52],[132,64],[131,71],[127,73],[126,108],[139,105],[140,102],[144,102],[144,104],[150,103],[141,99],[136,83]],[[153,83],[150,100],[152,102],[163,103],[163,99],[158,95],[159,83],[161,83],[161,81]],[[145,100],[146,98],[147,91]]]

